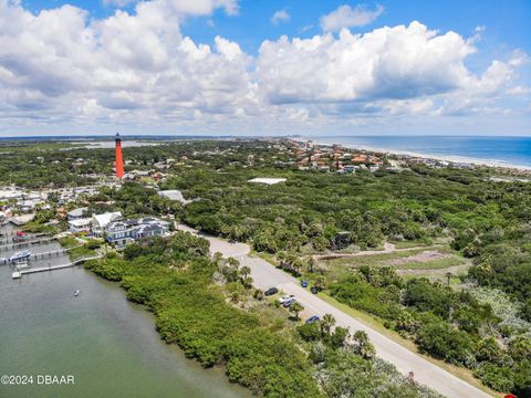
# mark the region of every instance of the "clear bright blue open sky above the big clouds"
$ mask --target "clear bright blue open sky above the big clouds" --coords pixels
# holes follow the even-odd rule
[[[192,18],[183,25],[185,34],[199,42],[212,42],[216,35],[237,41],[241,48],[256,53],[263,40],[280,35],[309,38],[319,34],[319,19],[342,4],[357,4],[350,1],[309,0],[244,0],[240,2],[238,15],[227,15],[221,11],[212,15]],[[363,1],[368,9],[381,4],[384,13],[373,23],[353,29],[364,32],[381,25],[396,25],[421,21],[431,29],[454,30],[465,36],[473,34],[477,27],[486,32],[480,48],[493,53],[521,48],[531,51],[531,1]],[[113,14],[116,7],[102,0],[25,0],[22,4],[33,12],[52,9],[62,4],[73,4],[91,12],[95,18]],[[134,3],[124,9],[133,11]],[[287,10],[290,21],[272,24],[270,19],[278,10]],[[214,27],[208,21],[214,22]],[[310,28],[311,27],[311,28]]]

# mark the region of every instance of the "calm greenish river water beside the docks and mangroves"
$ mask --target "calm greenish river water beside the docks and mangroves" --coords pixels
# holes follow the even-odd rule
[[[79,297],[72,295],[75,289],[81,290]],[[176,346],[163,343],[149,313],[127,302],[117,285],[83,268],[13,281],[10,268],[0,265],[3,374],[73,375],[75,385],[0,385],[2,398],[250,396],[229,384],[221,369],[205,370]]]

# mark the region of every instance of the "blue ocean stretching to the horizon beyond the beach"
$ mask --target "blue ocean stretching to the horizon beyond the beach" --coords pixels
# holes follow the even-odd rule
[[[531,137],[322,136],[310,139],[358,148],[531,167]]]

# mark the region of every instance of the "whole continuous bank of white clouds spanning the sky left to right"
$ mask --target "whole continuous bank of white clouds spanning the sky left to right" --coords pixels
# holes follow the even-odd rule
[[[482,73],[473,40],[419,22],[353,34],[264,41],[256,56],[183,34],[189,15],[238,12],[231,0],[153,0],[93,19],[63,6],[37,14],[0,0],[0,128],[6,125],[320,128],[385,115],[491,113],[524,101],[521,51]],[[294,128],[294,127],[293,127]]]

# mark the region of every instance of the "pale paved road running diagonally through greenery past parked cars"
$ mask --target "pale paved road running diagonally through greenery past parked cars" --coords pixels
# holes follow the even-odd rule
[[[195,230],[179,226],[179,229],[192,233]],[[337,310],[331,304],[326,303],[319,295],[310,293],[308,290],[300,286],[299,281],[285,272],[277,269],[267,261],[249,256],[249,245],[244,243],[229,243],[218,238],[202,235],[210,241],[210,250],[212,253],[220,252],[223,256],[233,256],[240,261],[242,265],[248,265],[251,269],[251,276],[253,284],[266,290],[275,286],[288,294],[294,294],[296,300],[304,306],[303,316],[332,314],[336,320],[337,326],[348,327],[351,333],[354,331],[365,331],[371,338],[377,355],[394,364],[396,368],[406,375],[413,371],[415,380],[429,386],[448,398],[467,397],[480,398],[490,397],[488,394],[477,389],[460,378],[449,374],[437,365],[424,359],[421,356],[404,348],[399,344],[393,342],[381,333],[374,331],[367,325],[356,321],[352,316]]]

